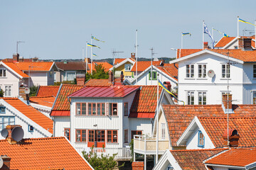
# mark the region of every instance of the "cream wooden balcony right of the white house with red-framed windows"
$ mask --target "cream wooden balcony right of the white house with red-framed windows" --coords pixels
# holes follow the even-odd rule
[[[170,149],[169,140],[159,140],[159,154]],[[156,154],[156,135],[134,135],[134,152],[138,154]]]

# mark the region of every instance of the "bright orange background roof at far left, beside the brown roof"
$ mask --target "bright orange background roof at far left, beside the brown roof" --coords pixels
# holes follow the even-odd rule
[[[50,71],[54,62],[16,62],[16,66],[22,71]]]

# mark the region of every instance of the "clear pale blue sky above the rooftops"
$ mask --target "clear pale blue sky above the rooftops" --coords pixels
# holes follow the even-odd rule
[[[41,60],[81,59],[86,41],[92,34],[105,42],[92,41],[93,59],[130,57],[135,52],[138,30],[138,57],[176,57],[171,48],[202,47],[202,23],[230,36],[237,35],[237,17],[254,23],[255,0],[0,0],[0,59],[11,58],[16,52],[24,58]],[[240,23],[244,29],[254,26]],[[248,35],[247,32],[244,33]],[[214,32],[214,39],[222,35]],[[205,40],[210,38],[205,34]],[[85,52],[86,53],[86,52]],[[87,48],[90,57],[90,47]]]

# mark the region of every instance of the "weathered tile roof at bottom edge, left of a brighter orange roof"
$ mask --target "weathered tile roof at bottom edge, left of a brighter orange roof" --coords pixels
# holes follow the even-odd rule
[[[225,151],[225,149],[170,150],[178,165],[181,166],[181,169],[186,170],[206,169],[203,160],[223,151]]]

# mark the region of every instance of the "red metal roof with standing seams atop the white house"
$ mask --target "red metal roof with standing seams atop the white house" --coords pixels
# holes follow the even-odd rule
[[[70,94],[68,97],[99,97],[99,98],[123,98],[139,87],[134,86],[85,86],[84,88]]]

